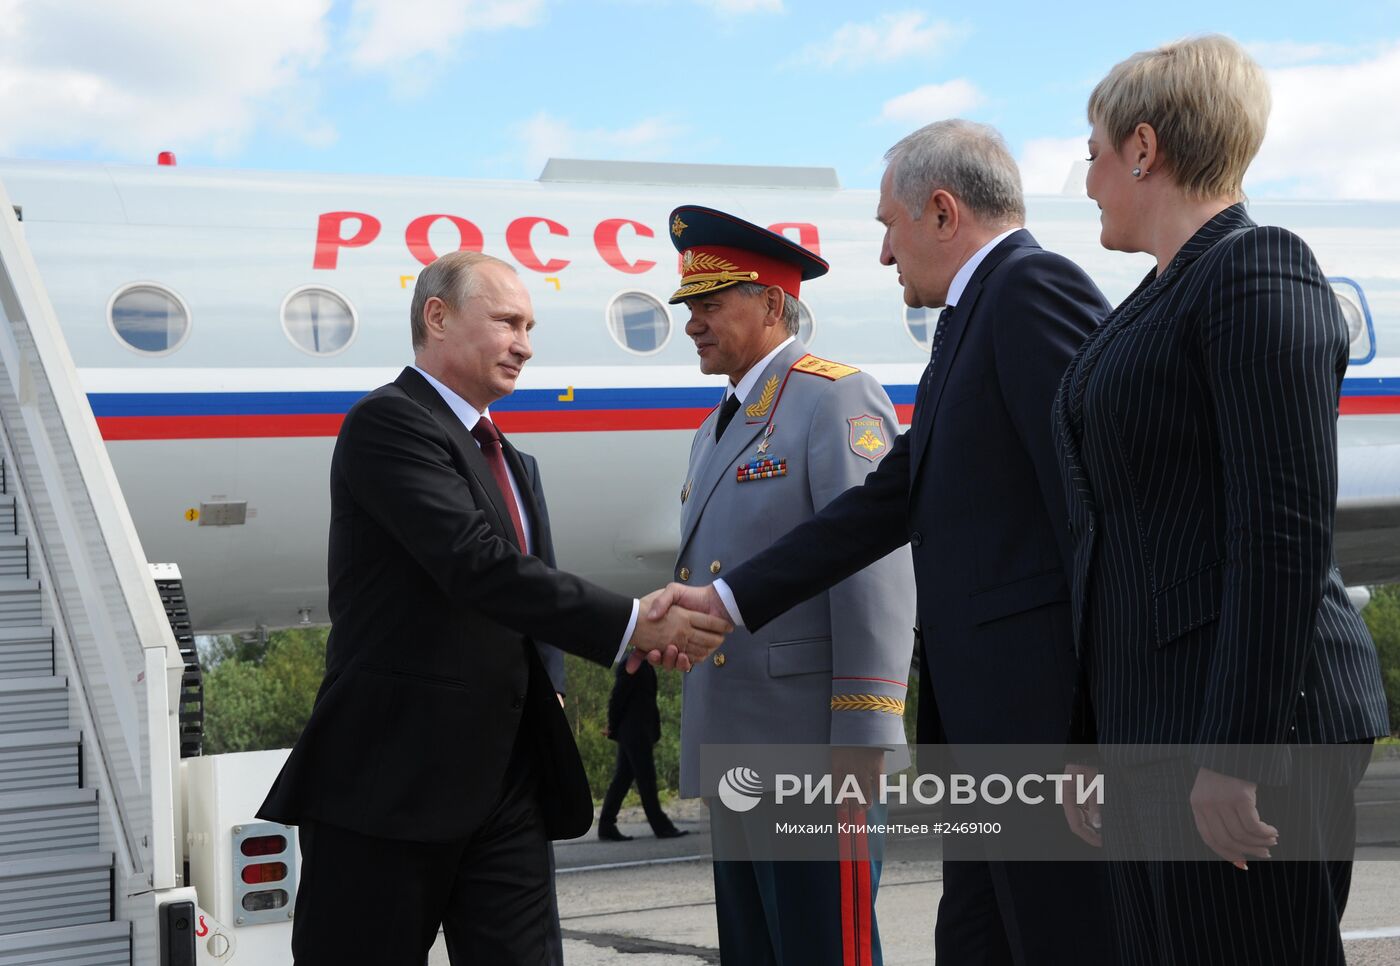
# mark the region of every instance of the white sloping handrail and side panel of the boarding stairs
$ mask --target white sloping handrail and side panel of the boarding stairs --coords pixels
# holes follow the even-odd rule
[[[88,785],[106,804],[119,896],[174,888],[176,708],[183,659],[150,580],[97,420],[0,182],[0,431],[32,528],[35,575],[59,605]],[[22,514],[21,514],[22,507]],[[91,734],[87,734],[91,731]],[[104,836],[106,840],[108,836]]]

